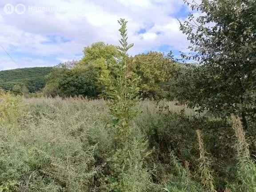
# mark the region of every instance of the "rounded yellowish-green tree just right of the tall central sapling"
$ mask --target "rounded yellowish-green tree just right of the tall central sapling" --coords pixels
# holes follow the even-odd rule
[[[129,68],[141,78],[139,84],[143,98],[163,99],[168,92],[164,84],[178,70],[176,65],[161,52],[148,52],[129,57]]]

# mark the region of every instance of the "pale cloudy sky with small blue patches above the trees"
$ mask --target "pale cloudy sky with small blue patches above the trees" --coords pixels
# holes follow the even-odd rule
[[[77,60],[85,46],[98,41],[117,45],[120,18],[129,21],[131,55],[179,55],[188,46],[178,22],[189,12],[183,0],[0,1],[0,70]]]

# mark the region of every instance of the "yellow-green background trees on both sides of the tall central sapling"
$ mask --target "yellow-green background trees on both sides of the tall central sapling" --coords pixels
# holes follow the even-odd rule
[[[52,69],[43,92],[48,96],[102,96],[111,78],[115,78],[115,66],[121,56],[116,46],[104,42],[94,43],[84,48],[84,56],[79,61],[66,62]],[[170,81],[185,70],[178,63],[161,52],[148,52],[128,57],[128,76],[140,76],[140,95],[143,98],[164,99],[175,97],[169,90]]]

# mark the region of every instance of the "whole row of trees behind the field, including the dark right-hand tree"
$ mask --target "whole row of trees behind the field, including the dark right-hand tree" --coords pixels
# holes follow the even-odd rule
[[[218,17],[222,13],[212,14]],[[239,16],[246,18],[242,13]],[[176,99],[196,108],[197,112],[209,111],[216,116],[236,114],[242,117],[246,129],[256,117],[256,37],[252,32],[256,25],[240,21],[244,28],[237,28],[224,20],[225,28],[216,24],[210,30],[203,27],[204,19],[197,18],[201,27],[196,33],[189,22],[180,24],[182,32],[190,34],[188,39],[194,44],[190,46],[193,54],[181,55],[184,60],[190,60],[190,64],[178,62],[172,54],[166,56],[151,51],[126,59],[127,77],[133,74],[140,77],[138,86],[142,98]],[[120,52],[116,46],[104,42],[85,47],[83,52],[81,60],[52,69],[44,95],[105,96],[105,88],[117,78],[115,66],[122,60]]]

